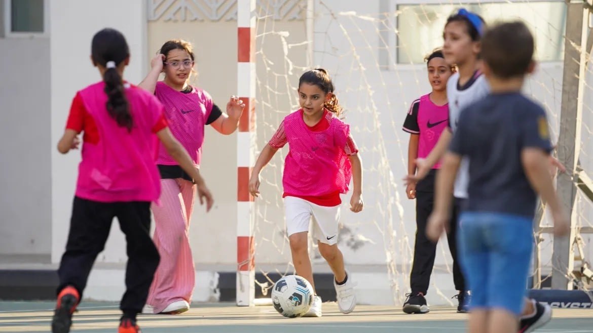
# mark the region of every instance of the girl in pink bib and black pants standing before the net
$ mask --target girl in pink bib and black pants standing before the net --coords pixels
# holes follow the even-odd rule
[[[447,127],[449,118],[447,81],[453,70],[445,62],[441,50],[435,50],[425,60],[432,92],[423,95],[412,103],[403,126],[403,130],[410,133],[408,146],[409,175],[416,173],[416,159],[428,156],[439,136]],[[434,165],[423,180],[420,180],[417,184],[416,182],[410,182],[406,187],[407,197],[416,199],[416,240],[414,244],[414,261],[410,273],[412,293],[408,294],[408,298],[404,302],[403,312],[406,313],[429,312],[425,295],[428,291],[432,267],[435,263],[436,243],[426,238],[426,222],[428,222],[428,216],[432,212],[435,176],[438,169],[439,165]],[[453,257],[453,281],[455,289],[460,292],[457,295],[459,300],[457,309],[459,312],[464,312],[465,283],[457,260],[456,229],[451,228],[447,237],[449,250]]]

